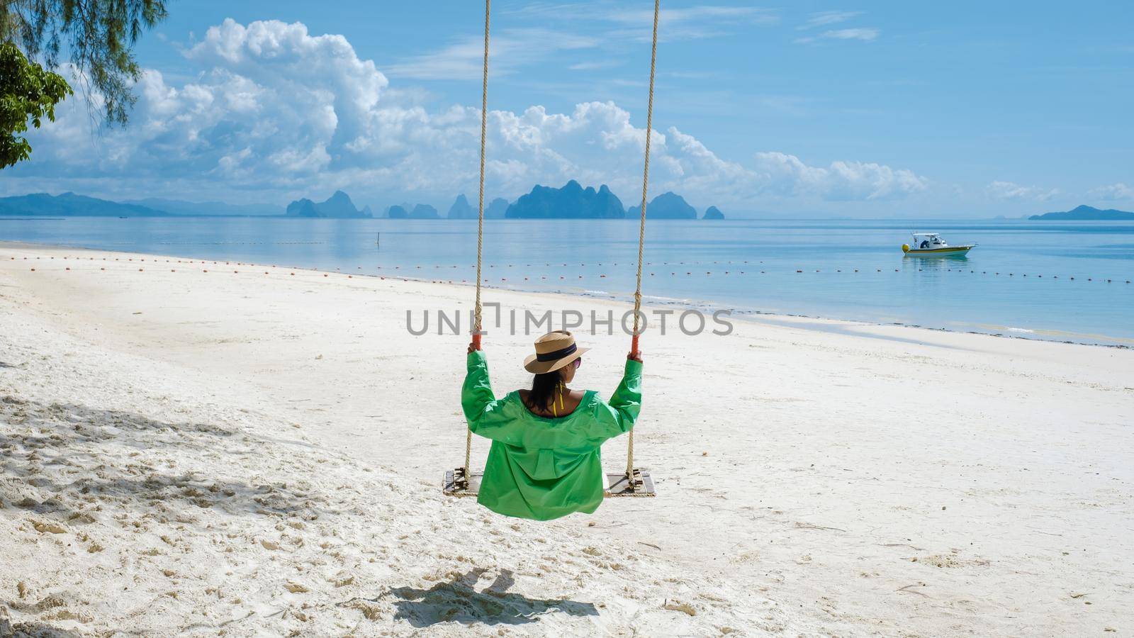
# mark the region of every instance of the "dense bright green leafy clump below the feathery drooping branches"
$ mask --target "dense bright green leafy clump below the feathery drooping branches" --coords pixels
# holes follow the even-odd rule
[[[59,75],[28,60],[8,42],[0,42],[0,168],[26,160],[32,153],[27,138],[17,133],[39,128],[43,118],[56,119],[56,104],[71,93]]]

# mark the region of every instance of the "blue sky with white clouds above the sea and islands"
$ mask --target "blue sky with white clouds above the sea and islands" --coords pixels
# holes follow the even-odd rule
[[[1132,7],[663,2],[651,190],[737,215],[1128,209]],[[635,203],[651,9],[493,2],[490,195],[578,177]],[[375,209],[474,194],[483,5],[197,1],[170,14],[137,48],[156,74],[132,129],[92,136],[86,114],[65,109],[0,190],[286,203],[342,187]],[[265,52],[265,39],[284,44]]]

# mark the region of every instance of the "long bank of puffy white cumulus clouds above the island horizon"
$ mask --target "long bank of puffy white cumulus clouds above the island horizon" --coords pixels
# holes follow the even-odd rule
[[[143,73],[125,129],[92,137],[82,102],[65,102],[58,121],[35,132],[33,160],[9,169],[5,188],[48,183],[105,196],[245,201],[344,188],[374,204],[407,193],[447,201],[476,188],[480,111],[426,109],[417,91],[390,87],[341,36],[313,36],[298,23],[226,20],[186,57],[200,68],[179,85]],[[540,106],[490,111],[488,124],[492,196],[572,178],[609,184],[623,198],[641,188],[645,131],[613,102],[562,114]],[[651,192],[674,190],[697,205],[764,196],[873,201],[926,187],[924,177],[878,163],[809,166],[775,152],[734,162],[677,128],[654,132],[651,160]]]

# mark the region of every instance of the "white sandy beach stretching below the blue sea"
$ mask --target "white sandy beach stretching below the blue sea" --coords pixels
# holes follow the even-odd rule
[[[658,497],[536,523],[440,493],[468,339],[413,336],[406,312],[471,303],[0,244],[0,627],[1134,633],[1134,351],[782,317],[648,333],[636,457]],[[628,338],[578,336],[576,386],[609,396]],[[486,337],[498,394],[528,381],[533,339]]]

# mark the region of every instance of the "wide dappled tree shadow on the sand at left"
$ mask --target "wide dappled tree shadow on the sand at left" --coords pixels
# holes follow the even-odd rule
[[[78,403],[40,403],[0,395],[0,503],[61,520],[90,522],[92,502],[120,506],[161,502],[170,515],[192,517],[218,506],[238,515],[318,518],[321,498],[297,486],[266,480],[222,479],[175,465],[195,456],[228,456],[239,467],[244,455],[263,454],[272,442],[206,422],[166,422],[145,415]],[[238,436],[235,436],[238,435]],[[101,446],[117,450],[104,455]],[[127,454],[137,448],[147,454]],[[75,507],[81,509],[75,509]]]

